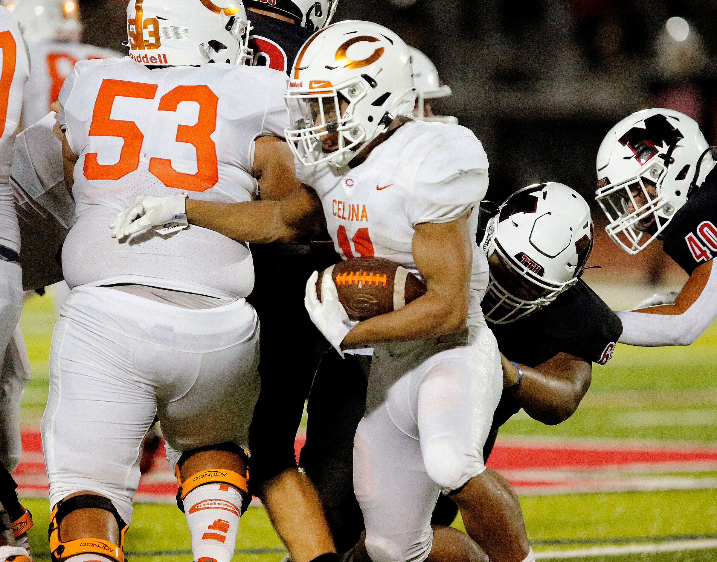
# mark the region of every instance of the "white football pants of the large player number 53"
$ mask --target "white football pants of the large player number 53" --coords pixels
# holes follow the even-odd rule
[[[259,322],[244,299],[194,310],[73,289],[52,335],[42,416],[50,507],[90,490],[130,523],[155,414],[173,470],[182,451],[229,441],[246,448],[258,362]]]

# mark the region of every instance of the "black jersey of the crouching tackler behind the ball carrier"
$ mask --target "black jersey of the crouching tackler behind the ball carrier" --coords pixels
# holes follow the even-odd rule
[[[488,326],[498,339],[500,352],[528,367],[541,365],[561,352],[604,365],[622,334],[617,314],[582,280],[533,314],[509,324],[488,321]],[[491,431],[520,409],[510,390],[503,390]]]

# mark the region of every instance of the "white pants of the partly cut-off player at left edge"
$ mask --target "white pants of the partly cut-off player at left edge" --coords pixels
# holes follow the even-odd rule
[[[29,359],[17,322],[22,312],[22,269],[0,260],[0,462],[8,472],[20,462],[20,400],[30,378]],[[10,345],[9,345],[10,344]]]

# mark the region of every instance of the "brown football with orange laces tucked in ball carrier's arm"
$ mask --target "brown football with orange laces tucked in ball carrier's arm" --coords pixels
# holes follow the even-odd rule
[[[365,320],[397,310],[426,293],[423,281],[398,263],[384,258],[354,258],[328,268],[338,299],[351,320]],[[316,292],[321,298],[321,279]]]

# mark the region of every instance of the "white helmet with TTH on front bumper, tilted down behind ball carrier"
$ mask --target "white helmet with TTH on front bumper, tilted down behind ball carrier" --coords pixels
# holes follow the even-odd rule
[[[573,286],[592,250],[587,202],[556,182],[515,192],[488,221],[481,248],[490,264],[485,318],[508,324]]]

